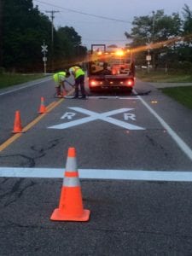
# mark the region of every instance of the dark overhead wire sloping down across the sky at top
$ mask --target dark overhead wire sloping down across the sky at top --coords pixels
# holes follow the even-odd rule
[[[95,17],[95,18],[99,18],[99,19],[103,19],[103,20],[112,20],[112,21],[123,22],[123,23],[130,23],[130,24],[132,23],[131,21],[128,21],[128,20],[119,20],[119,19],[114,19],[114,18],[102,16],[102,15],[91,15],[91,14],[85,13],[83,11],[78,11],[78,10],[75,10],[75,9],[67,9],[67,8],[64,8],[64,7],[55,5],[55,4],[45,3],[43,1],[34,0],[34,2],[44,3],[44,4],[49,5],[51,7],[67,10],[68,12],[73,12],[73,13],[76,13],[76,14],[79,14],[79,15],[87,15],[87,16],[91,16],[91,17]]]

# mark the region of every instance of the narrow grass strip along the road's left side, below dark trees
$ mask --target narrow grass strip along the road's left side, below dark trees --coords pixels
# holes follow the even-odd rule
[[[30,82],[35,79],[43,79],[44,74],[18,74],[18,73],[0,73],[0,89]]]

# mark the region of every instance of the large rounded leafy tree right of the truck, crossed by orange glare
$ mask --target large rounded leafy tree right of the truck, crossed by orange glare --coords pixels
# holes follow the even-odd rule
[[[170,48],[166,41],[171,42],[172,38],[181,34],[182,20],[178,14],[165,15],[164,10],[157,10],[153,15],[134,17],[132,25],[131,34],[125,32],[126,38],[132,38],[131,47],[137,48],[140,60],[141,56],[147,55],[150,51],[156,67],[160,55],[165,56]],[[144,62],[145,59],[142,64]]]

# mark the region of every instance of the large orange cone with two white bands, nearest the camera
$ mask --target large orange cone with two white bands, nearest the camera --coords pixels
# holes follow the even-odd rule
[[[68,148],[65,177],[61,188],[59,207],[54,210],[51,220],[88,221],[90,210],[84,210],[79,183],[75,148]]]

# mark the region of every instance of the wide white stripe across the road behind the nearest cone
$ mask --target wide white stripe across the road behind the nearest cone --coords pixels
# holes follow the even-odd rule
[[[63,178],[64,169],[0,167],[0,177]],[[192,182],[191,172],[79,169],[79,178]]]

